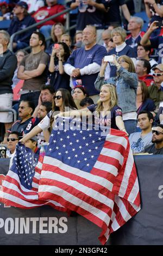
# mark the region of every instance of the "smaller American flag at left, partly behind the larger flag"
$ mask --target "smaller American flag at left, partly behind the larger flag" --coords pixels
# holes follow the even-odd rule
[[[48,204],[55,209],[66,211],[64,206],[54,200],[42,201],[38,198],[37,177],[41,172],[42,161],[43,157],[38,161],[31,149],[18,142],[12,166],[3,180],[0,201],[18,208],[35,208]]]

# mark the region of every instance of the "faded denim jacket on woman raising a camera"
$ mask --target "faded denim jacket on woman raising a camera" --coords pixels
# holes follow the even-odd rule
[[[136,111],[136,90],[138,77],[133,72],[128,72],[124,68],[118,70],[118,76],[110,77],[104,80],[104,77],[98,77],[95,81],[95,88],[100,90],[103,84],[111,83],[116,86],[118,96],[118,106],[122,108],[123,113]]]

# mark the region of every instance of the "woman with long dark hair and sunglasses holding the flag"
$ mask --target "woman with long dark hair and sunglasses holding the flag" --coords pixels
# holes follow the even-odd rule
[[[55,92],[53,96],[52,111],[49,112],[46,117],[43,118],[41,122],[36,125],[29,133],[27,133],[27,135],[24,136],[20,142],[25,143],[28,141],[28,139],[47,129],[49,129],[51,132],[53,129],[55,115],[57,115],[58,112],[65,112],[66,108],[70,109],[71,111],[73,109],[77,109],[77,106],[74,103],[71,93],[64,88],[60,88],[57,90],[57,92]],[[48,142],[49,135],[50,133],[47,131],[46,142]]]

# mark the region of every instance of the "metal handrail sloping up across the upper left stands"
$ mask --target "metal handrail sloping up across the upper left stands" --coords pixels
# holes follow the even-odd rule
[[[43,21],[36,22],[35,24],[33,24],[33,25],[31,25],[31,26],[29,26],[29,27],[27,27],[27,28],[24,28],[24,29],[22,29],[21,31],[17,31],[17,32],[15,32],[14,34],[12,34],[11,37],[10,37],[10,46],[9,46],[10,51],[13,50],[13,48],[12,48],[12,43],[13,43],[13,41],[14,41],[15,35],[22,34],[22,33],[26,32],[26,31],[28,31],[29,29],[35,28],[35,27],[41,25],[42,23],[45,23],[46,21],[52,20],[52,19],[54,19],[54,18],[56,18],[56,17],[58,17],[58,16],[60,16],[60,15],[62,15],[62,14],[65,14],[65,13],[67,14],[66,28],[69,27],[69,24],[67,24],[67,23],[69,23],[69,20],[70,20],[70,19],[69,19],[70,11],[71,11],[71,8],[67,8],[66,10],[61,11],[61,12],[58,13],[58,14],[54,14],[54,15],[52,15],[51,17],[48,17],[48,18],[46,18],[46,19],[43,20]]]

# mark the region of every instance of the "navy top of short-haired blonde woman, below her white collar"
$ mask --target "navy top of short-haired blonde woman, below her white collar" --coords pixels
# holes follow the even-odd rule
[[[108,52],[108,55],[115,54],[117,57],[120,57],[122,55],[127,55],[130,58],[136,58],[136,54],[133,48],[126,45],[122,51],[116,52],[116,48],[112,49],[110,52]],[[110,65],[110,77],[116,76],[117,68],[115,65]]]

